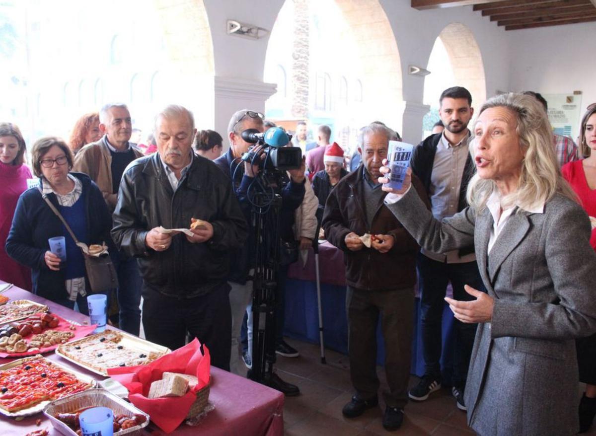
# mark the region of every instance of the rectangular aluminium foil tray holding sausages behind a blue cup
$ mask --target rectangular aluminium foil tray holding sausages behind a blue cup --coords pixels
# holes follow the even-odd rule
[[[54,400],[44,407],[44,415],[52,422],[54,428],[62,434],[77,436],[75,431],[70,429],[64,422],[54,418],[54,416],[58,413],[76,413],[78,410],[86,409],[87,407],[109,407],[114,412],[114,416],[120,414],[132,416],[135,413],[145,416],[145,422],[141,425],[135,425],[126,430],[117,431],[114,433],[115,436],[139,434],[142,428],[149,425],[149,415],[147,413],[137,409],[134,405],[128,403],[128,401],[117,397],[105,389],[91,389],[77,392],[76,394],[60,398],[60,400]]]

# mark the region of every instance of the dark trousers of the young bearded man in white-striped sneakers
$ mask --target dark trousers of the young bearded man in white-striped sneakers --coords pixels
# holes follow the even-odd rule
[[[445,292],[448,282],[453,287],[453,298],[460,301],[474,300],[465,292],[464,285],[486,292],[480,278],[476,261],[466,263],[445,263],[418,254],[418,279],[421,289],[421,330],[426,375],[441,379],[440,357],[442,351],[442,319],[445,307]],[[477,324],[467,324],[454,319],[455,366],[453,384],[465,388],[470,356],[476,336]]]

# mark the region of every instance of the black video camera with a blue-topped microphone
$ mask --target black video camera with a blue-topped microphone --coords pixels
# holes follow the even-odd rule
[[[259,164],[262,170],[296,170],[302,165],[302,150],[299,147],[285,147],[291,135],[281,127],[271,127],[265,133],[257,129],[247,129],[241,133],[242,139],[263,147],[262,151],[249,150],[242,155],[242,160]]]

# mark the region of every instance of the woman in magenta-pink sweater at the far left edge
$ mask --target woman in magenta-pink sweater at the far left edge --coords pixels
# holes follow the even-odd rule
[[[32,178],[24,165],[25,141],[18,127],[0,123],[0,280],[31,290],[31,270],[8,257],[4,244],[13,223],[17,200]]]

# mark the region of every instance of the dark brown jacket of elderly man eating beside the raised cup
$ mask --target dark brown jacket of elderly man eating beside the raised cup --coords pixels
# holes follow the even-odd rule
[[[420,190],[420,195],[425,196],[424,188],[417,177],[412,177],[412,180],[414,186]],[[340,180],[327,198],[322,220],[325,238],[344,252],[346,283],[356,289],[371,291],[414,286],[418,244],[383,204],[386,193],[378,204],[371,226],[367,225],[364,183],[367,181],[361,170],[349,173]],[[345,242],[346,235],[350,232],[359,236],[364,233],[393,235],[395,244],[384,254],[366,247],[351,251]]]

